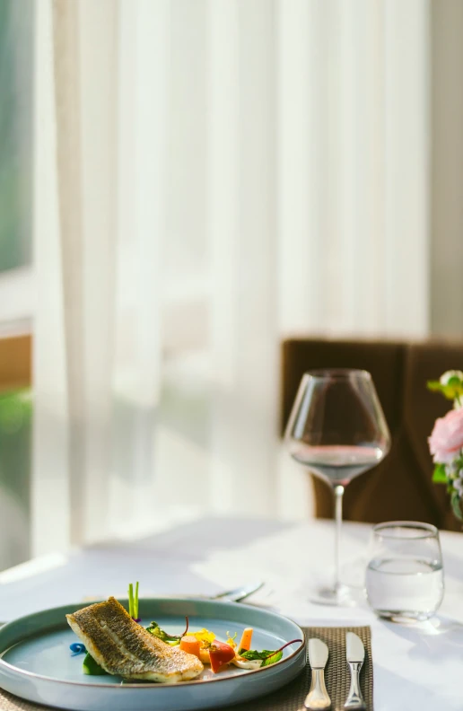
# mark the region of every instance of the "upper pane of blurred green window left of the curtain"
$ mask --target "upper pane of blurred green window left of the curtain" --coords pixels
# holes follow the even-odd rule
[[[0,272],[31,262],[33,0],[0,0]]]

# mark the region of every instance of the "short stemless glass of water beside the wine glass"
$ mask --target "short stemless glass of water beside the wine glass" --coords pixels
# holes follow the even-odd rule
[[[371,533],[366,592],[377,615],[423,620],[441,606],[444,592],[439,531],[430,523],[379,523]]]

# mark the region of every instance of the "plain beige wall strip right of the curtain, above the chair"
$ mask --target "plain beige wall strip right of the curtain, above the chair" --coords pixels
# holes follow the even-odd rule
[[[431,332],[463,336],[463,3],[431,5]],[[460,367],[462,364],[455,364]]]

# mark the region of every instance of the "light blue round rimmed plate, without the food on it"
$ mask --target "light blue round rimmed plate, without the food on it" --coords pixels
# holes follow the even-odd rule
[[[121,601],[127,607],[127,601]],[[293,680],[305,665],[301,628],[281,615],[236,602],[150,598],[140,601],[147,626],[152,620],[171,634],[185,628],[206,628],[226,641],[228,633],[254,628],[254,649],[284,649],[282,660],[264,669],[245,671],[234,666],[214,674],[206,667],[193,681],[179,684],[121,683],[118,677],[86,676],[83,654],[72,656],[69,645],[79,640],[65,615],[83,603],[43,610],[0,629],[0,686],[39,704],[73,711],[194,711],[236,704],[269,694]]]

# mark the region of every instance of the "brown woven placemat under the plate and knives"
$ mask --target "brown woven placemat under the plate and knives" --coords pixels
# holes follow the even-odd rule
[[[360,675],[360,686],[367,711],[373,711],[373,665],[371,660],[371,629],[369,627],[303,628],[307,640],[319,637],[328,645],[329,657],[325,669],[325,682],[333,711],[343,711],[350,684],[350,673],[345,662],[345,633],[355,632],[365,647],[365,661]],[[300,676],[278,689],[272,695],[227,707],[230,711],[301,711],[304,698],[310,689],[310,666],[307,664]],[[23,701],[0,689],[0,711],[44,711],[46,707]],[[47,707],[48,708],[48,707]],[[227,711],[227,709],[223,709]]]

